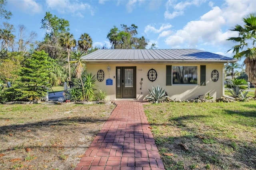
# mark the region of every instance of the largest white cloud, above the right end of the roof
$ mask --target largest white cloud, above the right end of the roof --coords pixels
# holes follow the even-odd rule
[[[190,21],[181,30],[173,32],[165,43],[170,47],[182,48],[211,45],[226,51],[234,45],[227,39],[238,36],[228,29],[236,24],[242,25],[244,15],[256,9],[256,3],[252,0],[226,0],[220,7],[214,6],[212,2],[208,5],[213,6],[212,10],[203,14],[199,20]]]

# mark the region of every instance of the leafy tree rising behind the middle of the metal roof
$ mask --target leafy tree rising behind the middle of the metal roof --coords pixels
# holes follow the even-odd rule
[[[112,44],[114,49],[145,49],[148,44],[145,38],[134,37],[136,36],[138,27],[132,24],[130,27],[127,25],[121,24],[122,31],[118,30],[116,26],[110,29],[110,32],[107,35],[108,40]]]

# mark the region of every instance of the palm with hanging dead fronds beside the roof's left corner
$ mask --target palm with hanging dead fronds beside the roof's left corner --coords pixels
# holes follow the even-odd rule
[[[82,60],[81,58],[84,55],[86,55],[84,51],[77,50],[77,51],[71,52],[71,56],[70,56],[73,59],[73,61],[70,61],[70,63],[74,63],[75,65],[75,76],[81,81],[83,96],[84,96],[84,84],[82,80],[82,73],[84,72],[84,69],[86,69],[86,65],[85,65],[85,61]]]

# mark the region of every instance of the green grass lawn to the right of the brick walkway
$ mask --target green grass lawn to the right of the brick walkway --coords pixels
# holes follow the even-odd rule
[[[256,101],[144,109],[166,170],[256,169]]]

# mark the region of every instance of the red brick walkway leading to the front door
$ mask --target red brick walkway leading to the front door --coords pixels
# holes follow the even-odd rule
[[[115,103],[74,170],[164,170],[142,102]]]

